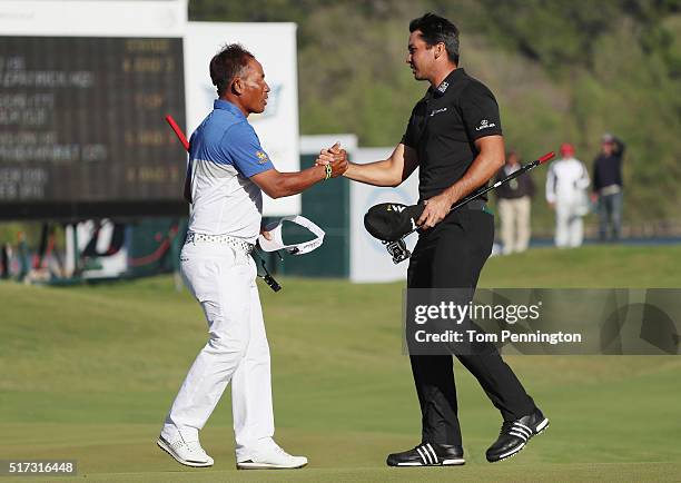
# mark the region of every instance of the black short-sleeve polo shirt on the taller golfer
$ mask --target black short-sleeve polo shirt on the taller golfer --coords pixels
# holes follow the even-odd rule
[[[440,195],[461,179],[477,156],[476,139],[501,134],[494,95],[463,69],[431,87],[412,110],[402,138],[418,154],[421,199]]]

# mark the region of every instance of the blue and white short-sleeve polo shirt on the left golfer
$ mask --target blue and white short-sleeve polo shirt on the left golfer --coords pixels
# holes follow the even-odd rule
[[[250,177],[274,169],[246,116],[217,99],[191,135],[189,230],[254,243],[260,230],[263,193]]]

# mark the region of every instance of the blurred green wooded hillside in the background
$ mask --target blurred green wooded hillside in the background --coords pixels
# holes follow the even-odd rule
[[[604,132],[628,146],[625,220],[679,227],[681,0],[191,0],[191,20],[298,24],[300,132],[354,132],[394,146],[425,89],[405,65],[408,21],[426,11],[461,30],[461,67],[502,111],[525,160],[572,142],[591,169]],[[551,227],[544,170],[535,227]]]

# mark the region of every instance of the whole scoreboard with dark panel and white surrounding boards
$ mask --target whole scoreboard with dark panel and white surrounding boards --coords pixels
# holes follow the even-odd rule
[[[185,216],[187,134],[213,110],[208,65],[239,42],[263,63],[249,116],[279,171],[297,171],[295,23],[190,22],[188,0],[0,0],[0,223]],[[264,197],[265,216],[300,196]]]

